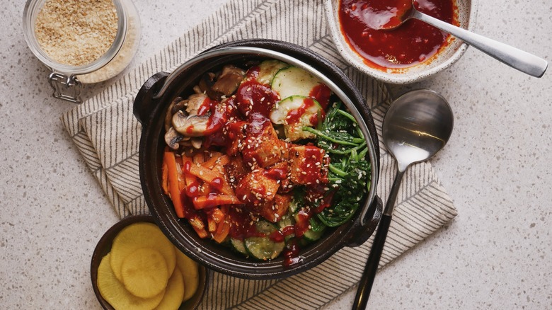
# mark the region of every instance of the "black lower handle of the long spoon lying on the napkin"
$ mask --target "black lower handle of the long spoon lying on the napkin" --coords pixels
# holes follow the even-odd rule
[[[387,231],[389,231],[389,225],[391,224],[391,216],[382,214],[379,222],[378,231],[374,237],[374,243],[372,243],[372,249],[370,250],[370,256],[368,257],[366,267],[360,278],[358,284],[357,296],[355,296],[355,302],[352,304],[354,310],[364,310],[368,304],[368,297],[370,291],[372,291],[372,285],[374,284],[374,278],[379,266],[379,259],[381,258],[381,252],[384,249],[385,239],[387,238]]]

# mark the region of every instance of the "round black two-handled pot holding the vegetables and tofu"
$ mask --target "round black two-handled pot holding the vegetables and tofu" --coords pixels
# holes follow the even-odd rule
[[[230,248],[214,241],[200,239],[186,220],[178,219],[169,197],[161,188],[163,160],[163,121],[166,108],[177,96],[188,96],[200,76],[223,64],[248,60],[280,59],[302,67],[318,76],[347,105],[367,138],[372,163],[372,186],[352,219],[326,231],[322,239],[301,249],[301,262],[284,266],[284,258],[255,261],[243,258]],[[142,123],[139,147],[139,172],[144,198],[161,230],[181,251],[207,268],[226,275],[248,279],[272,279],[295,275],[322,263],[344,246],[358,246],[372,235],[381,215],[381,199],[376,195],[379,176],[379,147],[376,127],[364,98],[338,67],[311,50],[289,42],[275,40],[241,40],[229,42],[202,52],[171,74],[151,76],[134,100],[134,115]]]

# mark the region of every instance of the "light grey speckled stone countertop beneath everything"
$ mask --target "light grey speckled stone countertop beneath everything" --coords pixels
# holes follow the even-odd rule
[[[135,63],[226,1],[208,2],[135,1]],[[90,260],[117,217],[59,120],[74,104],[51,97],[47,69],[25,44],[25,1],[3,4],[0,309],[100,309]],[[551,61],[551,16],[548,0],[479,1],[476,31]],[[110,83],[86,86],[84,98]],[[432,164],[459,215],[379,272],[369,306],[552,309],[552,72],[531,78],[470,48],[435,77],[390,86],[395,97],[422,87],[454,110],[452,138]],[[328,309],[350,309],[354,294]]]

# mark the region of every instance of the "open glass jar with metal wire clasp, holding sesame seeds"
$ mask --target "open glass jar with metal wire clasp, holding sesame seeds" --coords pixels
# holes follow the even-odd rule
[[[120,74],[132,61],[140,40],[140,19],[131,0],[113,0],[117,16],[117,32],[108,50],[93,62],[82,65],[63,64],[50,57],[40,47],[36,35],[37,17],[46,1],[28,0],[23,10],[23,34],[25,41],[35,56],[48,67],[52,73],[48,76],[53,96],[74,103],[81,103],[82,84],[98,83]],[[79,2],[77,2],[79,3]],[[64,5],[68,5],[67,2]],[[86,16],[87,13],[82,12]],[[64,21],[58,21],[62,28]],[[69,26],[70,27],[70,26]],[[62,29],[72,31],[71,28]],[[86,48],[83,47],[82,48]]]

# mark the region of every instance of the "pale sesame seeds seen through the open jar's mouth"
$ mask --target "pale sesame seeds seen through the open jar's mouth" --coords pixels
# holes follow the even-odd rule
[[[38,13],[35,35],[54,61],[90,64],[113,45],[117,11],[111,0],[47,0]]]

